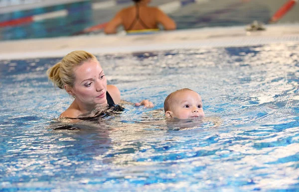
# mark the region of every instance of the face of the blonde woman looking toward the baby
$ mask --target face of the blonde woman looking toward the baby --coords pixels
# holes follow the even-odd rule
[[[76,100],[86,105],[106,104],[107,79],[96,60],[84,62],[74,69],[75,82],[72,89]]]

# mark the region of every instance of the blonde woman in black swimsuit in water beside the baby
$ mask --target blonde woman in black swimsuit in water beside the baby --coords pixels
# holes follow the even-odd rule
[[[119,89],[107,85],[107,79],[97,58],[86,51],[73,51],[47,71],[49,79],[65,89],[74,101],[59,118],[77,118],[93,111],[96,106],[114,105],[121,101]],[[153,107],[148,100],[136,106]]]

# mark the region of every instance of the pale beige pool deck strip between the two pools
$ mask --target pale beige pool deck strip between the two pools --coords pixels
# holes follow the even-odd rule
[[[0,60],[63,57],[73,50],[108,54],[299,42],[299,24],[271,24],[265,27],[264,31],[253,32],[246,31],[246,26],[233,26],[138,35],[119,33],[1,41]]]

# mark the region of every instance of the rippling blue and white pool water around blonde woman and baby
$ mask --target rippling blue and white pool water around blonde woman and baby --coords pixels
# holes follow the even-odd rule
[[[298,43],[97,56],[154,109],[54,130],[72,102],[45,74],[61,58],[0,61],[0,191],[299,191]],[[220,126],[166,127],[157,110],[184,87]]]

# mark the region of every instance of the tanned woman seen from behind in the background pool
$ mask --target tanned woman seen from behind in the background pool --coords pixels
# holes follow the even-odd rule
[[[134,6],[119,11],[105,27],[106,34],[117,32],[119,25],[124,25],[127,32],[134,30],[158,30],[162,24],[165,30],[174,30],[175,22],[157,7],[149,7],[150,0],[133,0]]]

